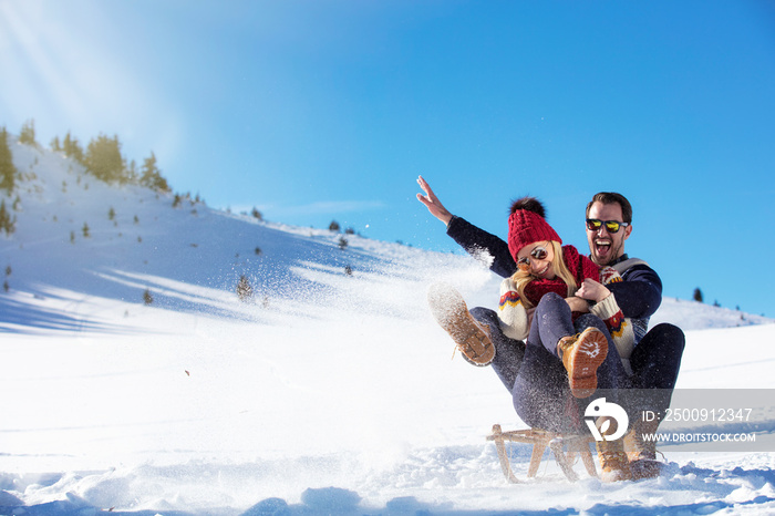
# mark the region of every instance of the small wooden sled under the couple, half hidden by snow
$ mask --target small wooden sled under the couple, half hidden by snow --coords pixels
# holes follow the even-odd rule
[[[529,478],[535,477],[536,473],[538,473],[538,466],[541,463],[547,446],[549,446],[554,453],[557,464],[559,464],[560,469],[562,469],[562,473],[565,473],[565,476],[567,476],[570,482],[578,481],[578,476],[574,472],[576,453],[581,455],[581,461],[589,475],[598,476],[592,454],[589,451],[589,443],[595,442],[591,435],[558,434],[537,429],[504,432],[500,425],[496,424],[493,425],[493,434],[487,436],[487,441],[495,442],[495,448],[498,452],[498,460],[500,461],[500,469],[503,469],[506,478],[514,484],[519,484],[524,481],[517,478],[512,471],[512,464],[506,454],[506,441],[533,444],[533,455],[530,456],[530,465],[527,469],[527,476]]]

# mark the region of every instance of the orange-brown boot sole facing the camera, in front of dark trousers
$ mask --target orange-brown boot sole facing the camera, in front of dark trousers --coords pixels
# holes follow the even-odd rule
[[[598,388],[598,368],[608,354],[608,339],[602,331],[590,327],[581,333],[564,337],[557,343],[557,354],[568,371],[570,393],[587,398]]]

